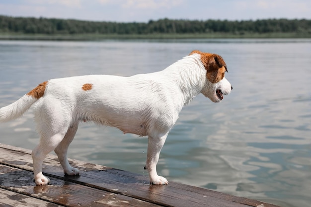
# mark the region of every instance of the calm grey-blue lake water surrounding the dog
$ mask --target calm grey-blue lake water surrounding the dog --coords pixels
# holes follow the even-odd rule
[[[222,103],[199,94],[184,107],[158,173],[282,207],[311,207],[311,39],[0,41],[0,107],[48,79],[154,72],[194,49],[225,59],[233,91]],[[1,123],[0,142],[34,148],[32,117],[30,110]],[[68,155],[148,176],[147,142],[81,123]]]

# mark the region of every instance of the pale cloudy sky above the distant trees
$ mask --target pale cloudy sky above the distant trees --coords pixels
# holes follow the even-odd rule
[[[0,15],[116,22],[311,19],[311,0],[0,0]]]

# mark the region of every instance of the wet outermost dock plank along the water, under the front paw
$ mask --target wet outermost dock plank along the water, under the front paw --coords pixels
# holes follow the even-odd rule
[[[3,144],[0,144],[0,147],[2,147],[0,150],[0,153],[2,151],[0,156],[2,163],[25,170],[32,170],[30,150]],[[16,155],[12,157],[9,155],[10,153],[15,153]],[[81,170],[81,176],[64,176],[57,157],[54,155],[49,155],[45,159],[44,174],[162,206],[258,207],[261,205],[265,207],[277,207],[272,204],[174,182],[170,182],[167,186],[149,185],[148,176],[77,160],[70,160],[70,162],[73,166]]]

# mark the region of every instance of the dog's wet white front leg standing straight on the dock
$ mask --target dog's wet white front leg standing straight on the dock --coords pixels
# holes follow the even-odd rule
[[[163,137],[148,138],[148,151],[147,151],[147,162],[145,169],[149,172],[150,184],[154,185],[165,185],[168,184],[166,178],[158,176],[156,173],[156,164],[159,159],[160,151],[165,142],[167,134]]]

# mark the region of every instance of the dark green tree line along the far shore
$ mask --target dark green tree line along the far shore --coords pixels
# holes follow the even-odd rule
[[[305,33],[308,19],[185,20],[159,19],[149,22],[107,22],[75,19],[10,17],[0,15],[0,33],[25,34],[189,34],[189,33]]]

